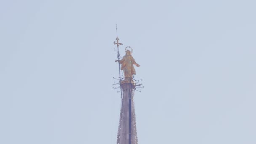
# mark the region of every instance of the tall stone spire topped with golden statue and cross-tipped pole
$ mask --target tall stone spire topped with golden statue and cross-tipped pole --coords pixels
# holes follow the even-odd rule
[[[117,30],[117,28],[116,28]],[[136,88],[143,88],[142,84],[139,84],[140,80],[135,80],[133,75],[136,74],[134,66],[140,67],[136,63],[135,59],[131,55],[133,49],[130,46],[125,48],[125,56],[120,59],[119,53],[119,38],[116,38],[114,42],[117,45],[117,59],[115,62],[118,62],[119,66],[119,83],[118,84],[121,90],[121,111],[120,119],[118,126],[117,134],[117,144],[138,144],[137,137],[137,128],[136,128],[136,117],[135,117],[135,108],[134,108],[134,91]],[[130,48],[130,50],[127,50]],[[120,67],[121,64],[121,67]],[[121,78],[121,70],[124,72],[124,78]],[[116,89],[116,88],[115,88]],[[138,91],[138,90],[137,90]]]

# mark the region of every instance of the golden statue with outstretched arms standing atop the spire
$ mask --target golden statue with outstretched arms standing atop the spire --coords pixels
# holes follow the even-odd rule
[[[133,64],[136,65],[137,67],[140,67],[140,65],[137,64],[133,56],[131,56],[130,50],[126,50],[125,52],[126,52],[126,55],[123,56],[123,59],[115,60],[115,62],[118,61],[120,64],[122,64],[121,70],[123,70],[125,74],[125,81],[127,81],[127,80],[131,80],[132,76],[136,74]]]

